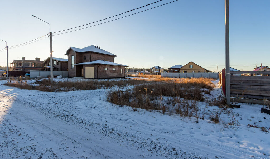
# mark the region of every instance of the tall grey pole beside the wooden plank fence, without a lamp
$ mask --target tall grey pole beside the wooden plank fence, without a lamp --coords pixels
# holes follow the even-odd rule
[[[230,38],[229,38],[229,0],[225,0],[225,48],[226,48],[226,99],[230,106]]]

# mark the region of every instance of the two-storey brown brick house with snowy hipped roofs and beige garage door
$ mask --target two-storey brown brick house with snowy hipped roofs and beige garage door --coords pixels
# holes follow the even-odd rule
[[[69,77],[124,78],[128,67],[114,63],[116,55],[94,45],[82,49],[70,47],[65,55],[68,55]]]

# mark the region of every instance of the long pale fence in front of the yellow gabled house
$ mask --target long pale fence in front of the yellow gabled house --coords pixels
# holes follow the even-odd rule
[[[192,72],[192,73],[183,73],[183,72],[162,72],[161,77],[173,77],[173,78],[185,78],[185,77],[211,77],[218,79],[217,72]]]

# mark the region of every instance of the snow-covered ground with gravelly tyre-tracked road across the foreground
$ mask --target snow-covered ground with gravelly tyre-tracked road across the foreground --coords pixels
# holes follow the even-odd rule
[[[196,122],[115,106],[106,101],[108,89],[50,93],[5,82],[0,81],[0,158],[270,158],[269,133],[247,127],[270,127],[261,105],[221,109],[199,102],[205,120]],[[217,82],[207,97],[221,93]],[[214,124],[207,120],[213,111],[225,123],[236,114],[240,126]]]

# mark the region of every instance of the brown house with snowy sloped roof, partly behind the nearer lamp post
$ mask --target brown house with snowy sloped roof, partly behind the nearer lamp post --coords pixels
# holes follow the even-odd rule
[[[53,71],[68,71],[68,59],[53,57]],[[44,62],[45,71],[50,71],[50,57],[48,57]]]

